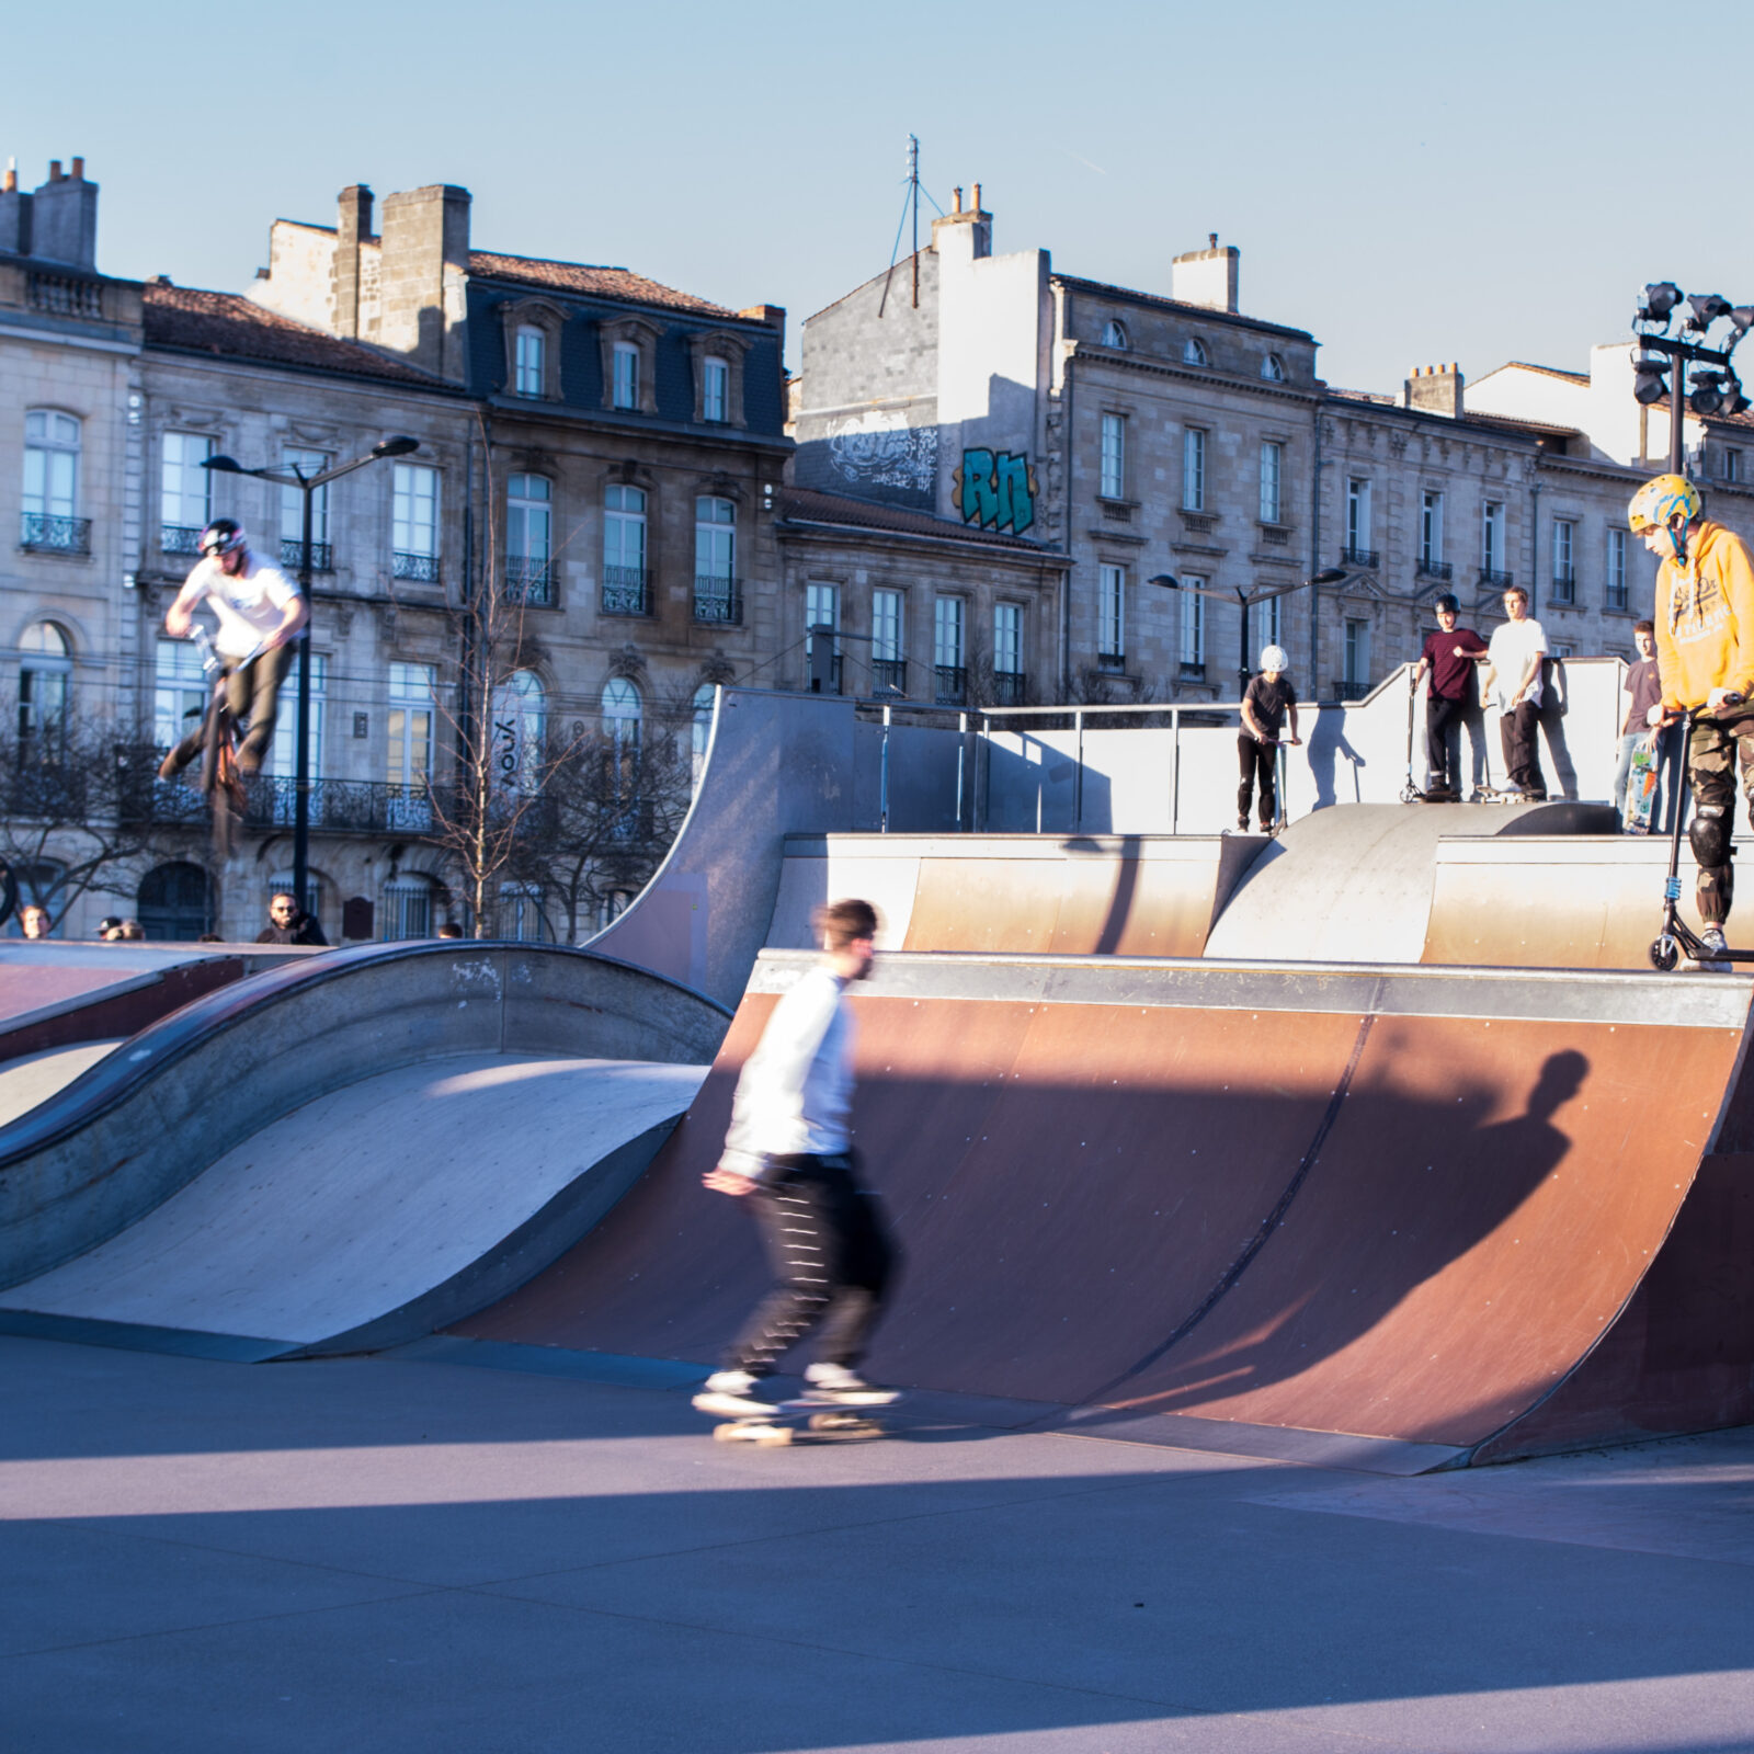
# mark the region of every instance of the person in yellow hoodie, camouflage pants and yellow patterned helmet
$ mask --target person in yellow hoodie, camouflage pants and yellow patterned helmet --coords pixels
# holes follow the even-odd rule
[[[1736,779],[1754,823],[1754,561],[1742,538],[1705,516],[1686,475],[1647,481],[1628,509],[1633,535],[1658,556],[1656,660],[1665,723],[1701,712],[1687,738],[1698,905],[1707,951],[1722,951],[1735,900]],[[1736,696],[1736,698],[1731,698]],[[1728,963],[1701,959],[1701,966]]]

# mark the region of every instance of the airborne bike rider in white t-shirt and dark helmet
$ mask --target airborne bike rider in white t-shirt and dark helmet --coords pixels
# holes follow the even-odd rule
[[[202,531],[202,558],[177,600],[165,612],[165,631],[186,640],[195,610],[203,603],[219,623],[214,651],[226,679],[226,705],[239,723],[249,721],[237,765],[246,774],[261,766],[274,742],[281,682],[293,661],[293,640],[310,616],[298,586],[265,560],[251,554],[244,526],[216,517]],[[175,779],[200,754],[200,724],[160,763],[160,779]]]

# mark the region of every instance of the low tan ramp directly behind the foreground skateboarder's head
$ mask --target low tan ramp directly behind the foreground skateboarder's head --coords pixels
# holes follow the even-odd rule
[[[1263,835],[788,835],[768,944],[858,895],[881,949],[1198,956]]]

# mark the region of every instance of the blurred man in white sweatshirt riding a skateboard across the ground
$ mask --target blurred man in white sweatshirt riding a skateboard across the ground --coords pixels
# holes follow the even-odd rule
[[[745,1417],[774,1410],[754,1394],[775,1359],[812,1328],[812,1400],[884,1407],[859,1358],[895,1270],[875,1196],[852,1173],[852,1012],[845,989],[872,970],[877,910],[830,902],[810,919],[823,959],[774,1007],[744,1065],[731,1128],[705,1184],[740,1200],[761,1230],[775,1286],[707,1377],[695,1407]]]

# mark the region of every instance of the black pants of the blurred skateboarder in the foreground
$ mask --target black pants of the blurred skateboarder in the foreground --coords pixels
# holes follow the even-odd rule
[[[777,1161],[781,1179],[744,1196],[777,1284],[724,1354],[724,1368],[765,1377],[812,1328],[821,1363],[856,1365],[896,1265],[882,1207],[854,1184],[851,1156]]]

